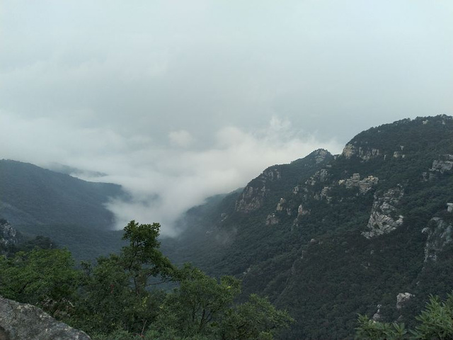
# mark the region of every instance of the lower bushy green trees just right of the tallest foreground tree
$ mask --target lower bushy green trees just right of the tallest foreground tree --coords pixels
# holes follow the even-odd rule
[[[276,331],[294,320],[267,299],[251,295],[235,305],[241,281],[232,276],[210,278],[185,265],[180,286],[169,293],[154,327],[173,336],[208,336],[212,339],[273,339]],[[210,338],[211,339],[211,338]]]

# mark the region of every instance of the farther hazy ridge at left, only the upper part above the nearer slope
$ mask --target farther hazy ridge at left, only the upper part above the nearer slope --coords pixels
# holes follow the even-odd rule
[[[33,164],[0,160],[0,215],[13,225],[71,224],[108,229],[120,186],[76,179]]]

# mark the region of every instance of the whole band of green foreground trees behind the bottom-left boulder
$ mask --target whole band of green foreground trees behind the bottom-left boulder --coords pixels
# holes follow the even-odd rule
[[[67,249],[35,240],[0,256],[0,295],[41,307],[92,339],[273,339],[294,320],[258,295],[235,303],[241,281],[181,268],[159,251],[158,223],[131,221],[120,254],[74,267]],[[38,240],[39,241],[39,240]],[[176,288],[155,288],[159,283]]]

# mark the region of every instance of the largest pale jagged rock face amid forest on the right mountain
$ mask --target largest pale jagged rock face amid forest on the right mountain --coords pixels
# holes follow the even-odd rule
[[[382,197],[374,195],[374,202],[369,216],[367,231],[362,235],[367,239],[388,234],[403,224],[403,216],[396,214],[395,205],[403,197],[401,187],[391,188]]]

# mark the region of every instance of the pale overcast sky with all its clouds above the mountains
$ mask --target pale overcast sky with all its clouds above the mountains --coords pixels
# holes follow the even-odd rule
[[[0,159],[121,184],[117,226],[372,126],[453,115],[453,1],[2,0]]]

